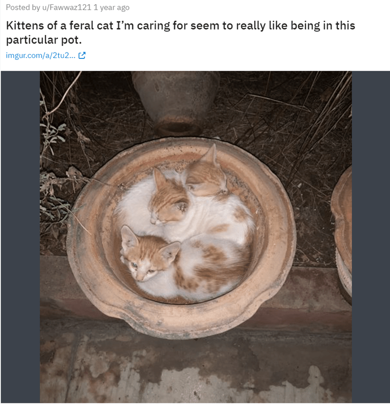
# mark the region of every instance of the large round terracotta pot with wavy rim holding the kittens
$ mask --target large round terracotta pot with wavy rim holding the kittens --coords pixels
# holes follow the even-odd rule
[[[151,174],[153,166],[180,171],[213,143],[229,189],[254,215],[252,262],[234,290],[213,300],[195,304],[151,300],[120,262],[113,212],[125,190]],[[84,187],[73,212],[77,219],[70,216],[67,253],[79,286],[101,312],[156,337],[204,337],[241,324],[282,287],[295,253],[292,206],[277,177],[251,154],[216,140],[165,138],[119,153]]]

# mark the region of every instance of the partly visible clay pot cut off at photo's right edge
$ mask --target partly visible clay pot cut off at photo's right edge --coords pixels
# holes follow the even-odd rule
[[[352,297],[352,166],[333,189],[331,211],[335,218],[337,270],[344,289]]]

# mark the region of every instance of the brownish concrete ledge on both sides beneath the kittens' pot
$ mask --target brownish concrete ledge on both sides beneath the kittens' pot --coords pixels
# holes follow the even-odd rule
[[[292,267],[285,284],[240,328],[351,332],[352,307],[336,269]],[[67,257],[40,257],[40,315],[112,320],[83,294]],[[122,321],[122,320],[118,320]]]

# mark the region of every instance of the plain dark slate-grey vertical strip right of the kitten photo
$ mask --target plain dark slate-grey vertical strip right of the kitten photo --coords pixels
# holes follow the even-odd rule
[[[390,72],[352,73],[352,401],[389,403]]]

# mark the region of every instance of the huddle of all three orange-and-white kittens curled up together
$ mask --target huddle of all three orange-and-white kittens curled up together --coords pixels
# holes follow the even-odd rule
[[[125,193],[116,216],[121,261],[153,296],[217,297],[239,283],[249,263],[254,219],[229,192],[215,144],[182,173],[154,168]]]

